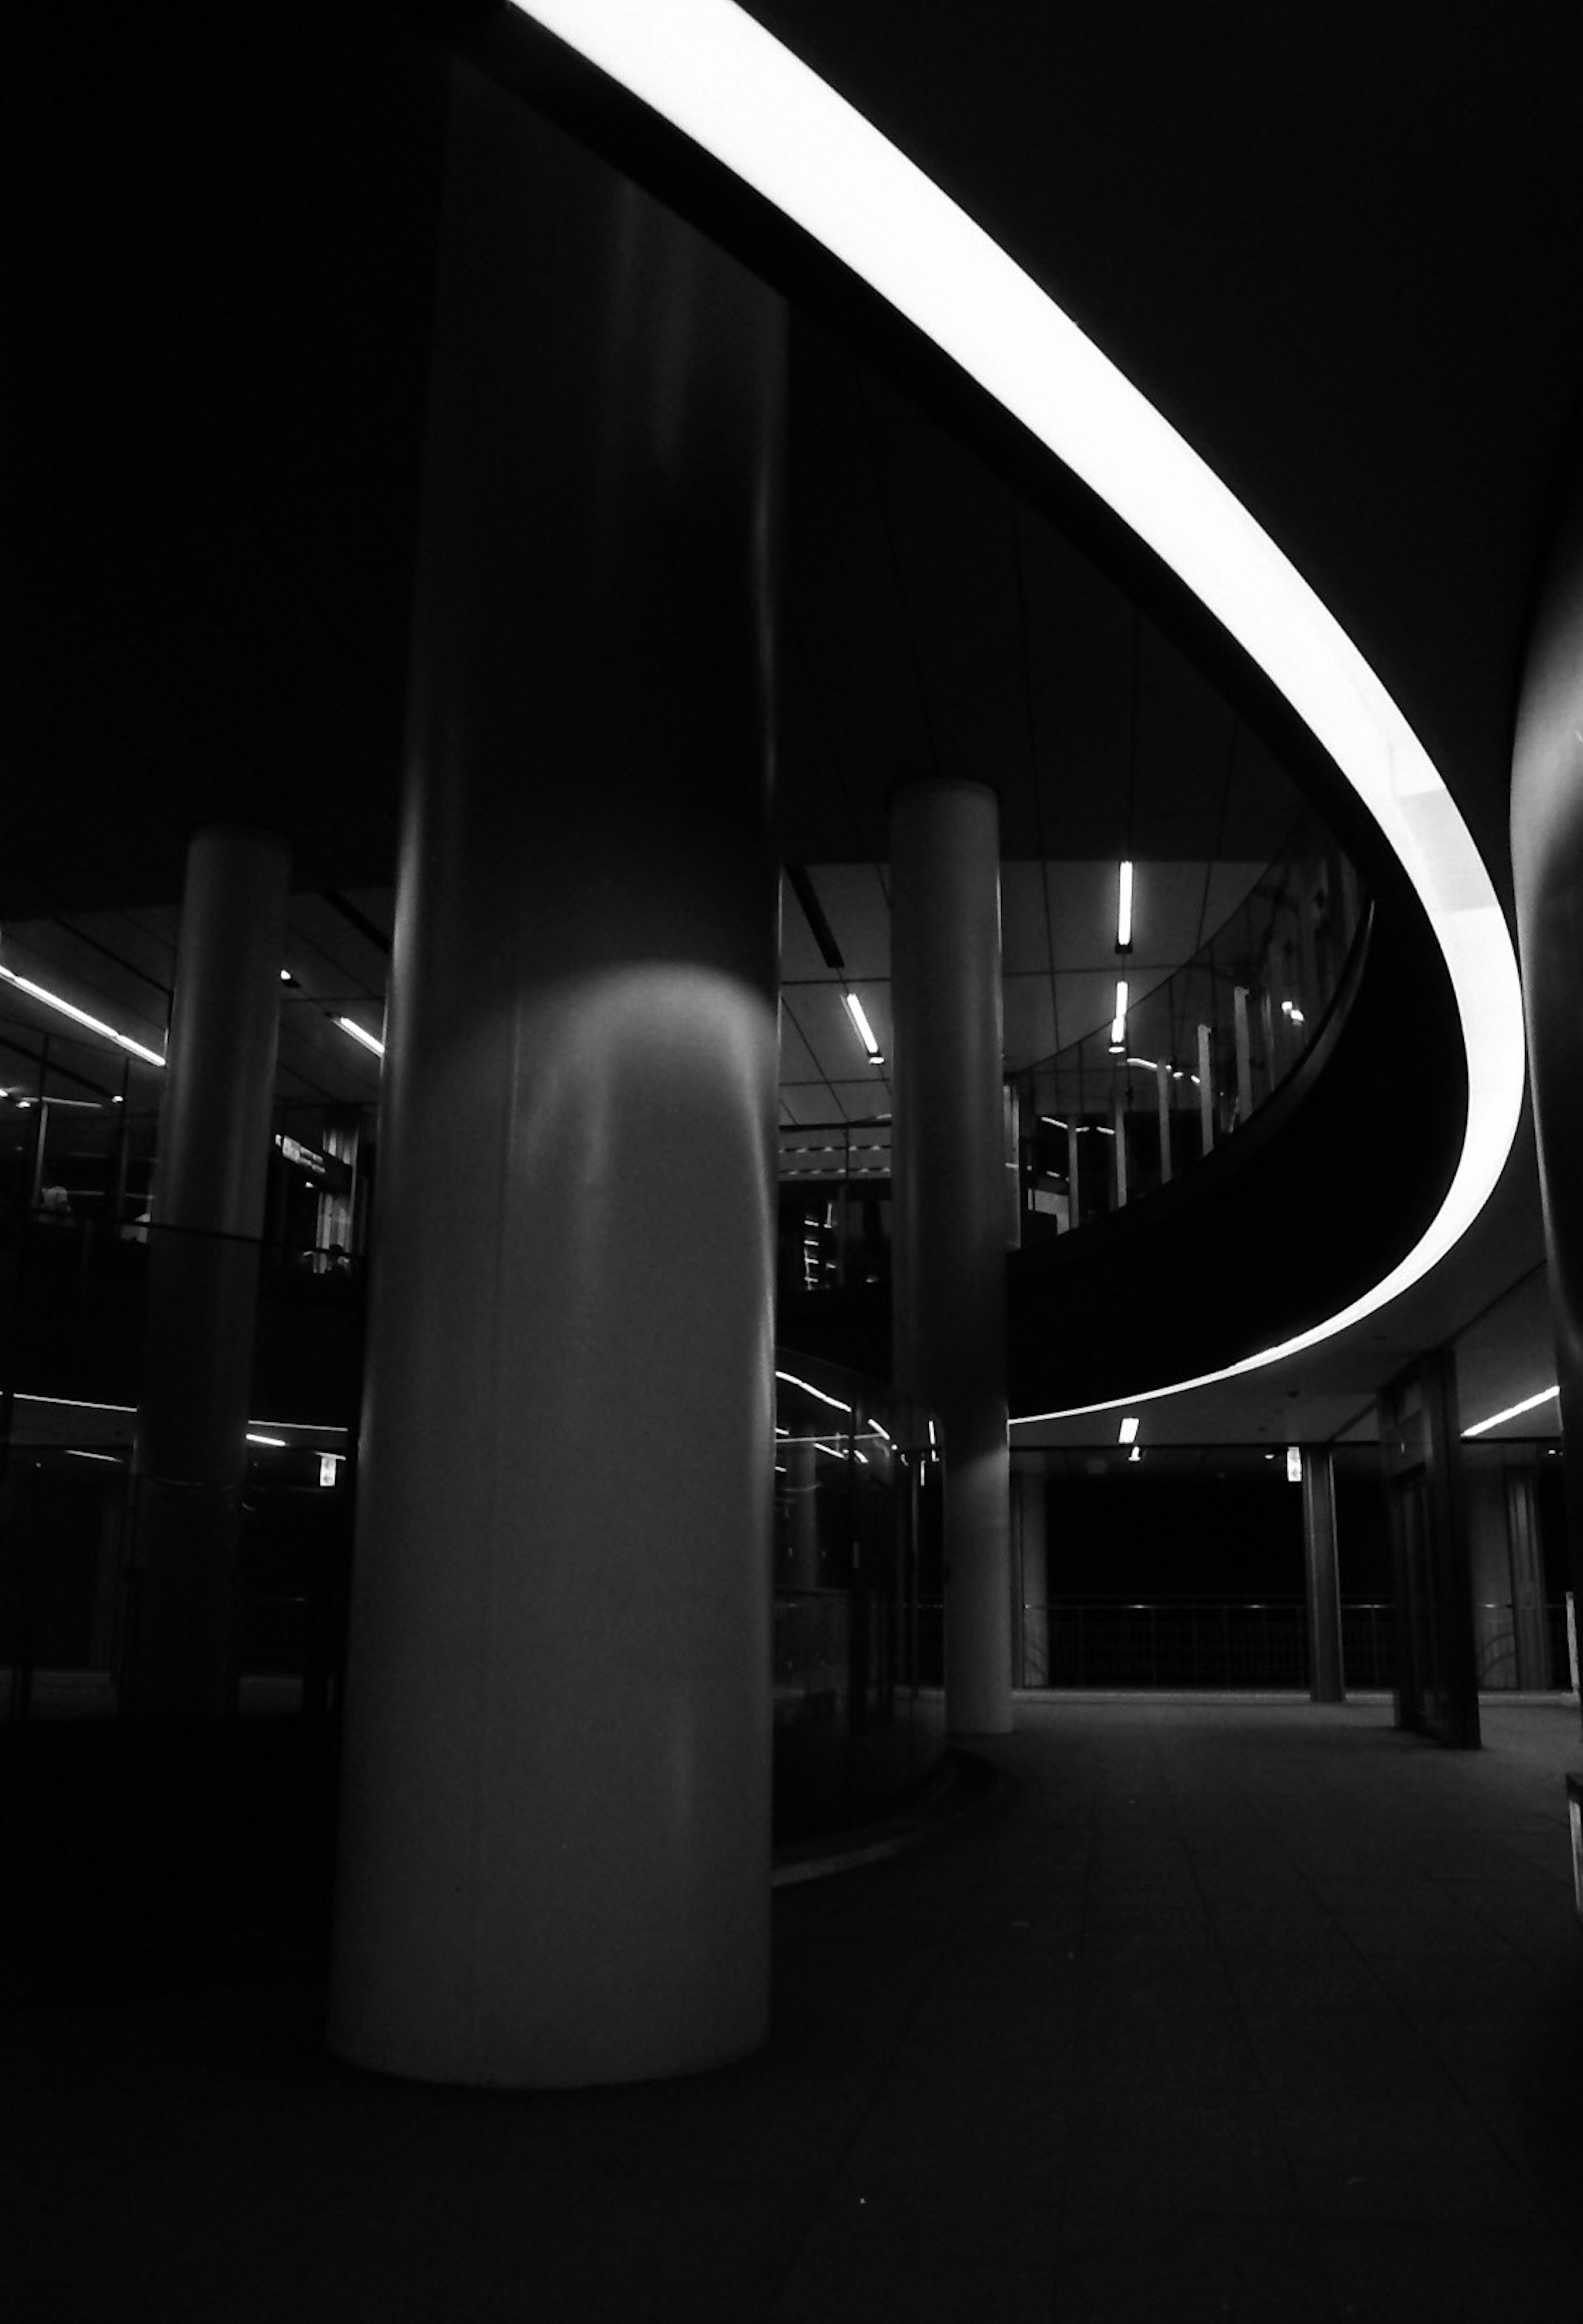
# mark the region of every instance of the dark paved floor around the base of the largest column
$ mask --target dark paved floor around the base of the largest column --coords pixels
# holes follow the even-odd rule
[[[298,1722],[242,1789],[195,1783],[186,1834],[144,1813],[158,1769],[126,1796],[95,1778],[95,1820],[88,1748],[63,1757],[56,1729],[44,1759],[35,1736],[5,1906],[0,2310],[1576,2317],[1576,1703],[1485,1703],[1478,1755],[1388,1720],[1020,1703],[986,1752],[1009,1778],[988,1817],[776,1894],[760,2059],[572,2096],[323,2054]]]

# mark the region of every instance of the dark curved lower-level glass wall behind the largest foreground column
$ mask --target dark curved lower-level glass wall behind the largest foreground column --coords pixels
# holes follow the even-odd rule
[[[12,1218],[16,1227],[19,1220]],[[84,1269],[91,1225],[58,1236],[40,1213],[0,1239],[23,1301],[0,1383],[0,1717],[114,1710],[126,1620],[144,1243],[109,1222]],[[267,1253],[260,1248],[260,1262]],[[263,1287],[272,1276],[265,1264]],[[274,1276],[260,1353],[346,1341],[356,1364],[358,1285]],[[353,1301],[353,1306],[349,1306]],[[28,1327],[28,1318],[37,1329]],[[60,1332],[53,1332],[53,1325]],[[67,1392],[72,1334],[116,1357],[116,1380]],[[79,1367],[77,1367],[79,1369]],[[286,1373],[284,1373],[286,1376]],[[302,1383],[293,1362],[288,1376]],[[300,1404],[311,1399],[302,1394]],[[242,1492],[237,1666],[249,1710],[328,1715],[339,1701],[356,1494],[356,1373],[325,1371],[323,1411],[293,1406],[251,1425]],[[941,1748],[939,1469],[932,1427],[888,1387],[835,1364],[776,1357],[774,1548],[776,1831],[860,1822],[916,1783]]]

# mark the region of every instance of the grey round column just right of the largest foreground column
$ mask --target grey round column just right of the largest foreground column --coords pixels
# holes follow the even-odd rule
[[[1000,811],[983,783],[890,806],[895,1367],[941,1418],[946,1727],[1011,1729]]]

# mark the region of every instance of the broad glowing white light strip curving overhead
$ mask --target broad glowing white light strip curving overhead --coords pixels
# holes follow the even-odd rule
[[[1399,855],[1446,955],[1467,1132],[1420,1243],[1309,1332],[1109,1411],[1311,1348],[1425,1276],[1474,1222],[1523,1106],[1506,920],[1427,751],[1334,616],[1211,467],[1076,323],[846,98],[730,0],[516,0],[832,251],[1083,479],[1209,607],[1311,727]],[[1039,1413],[1025,1418],[1067,1418]]]

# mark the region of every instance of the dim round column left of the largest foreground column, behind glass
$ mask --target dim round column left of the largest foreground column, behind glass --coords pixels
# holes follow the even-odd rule
[[[235,1708],[235,1566],[286,934],[286,841],[193,834],[160,1097],[121,1708]]]

